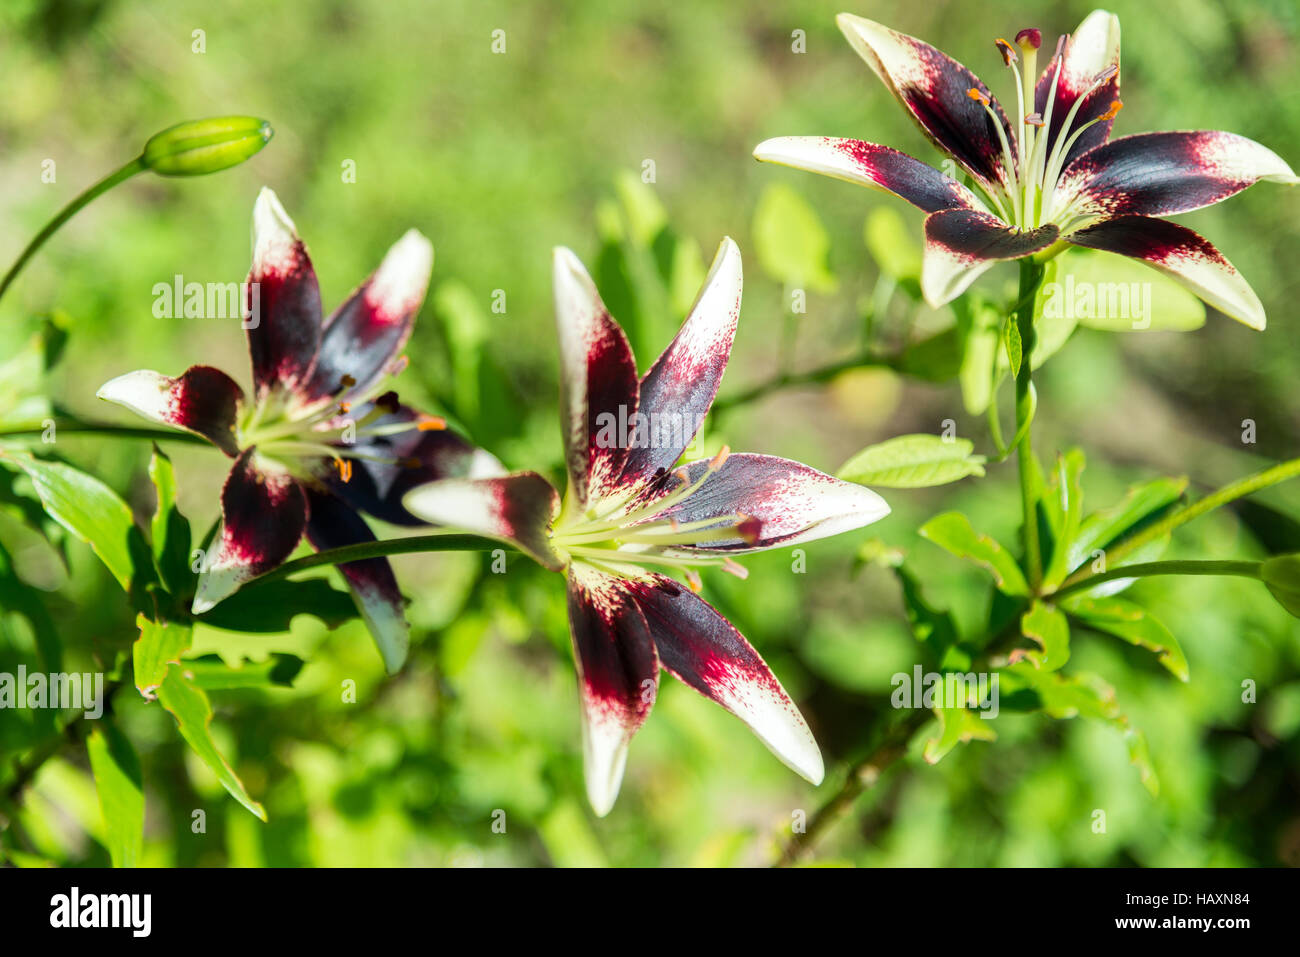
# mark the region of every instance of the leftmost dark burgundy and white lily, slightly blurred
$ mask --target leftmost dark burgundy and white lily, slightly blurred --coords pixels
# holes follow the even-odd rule
[[[408,231],[380,268],[322,320],[307,247],[276,194],[254,205],[244,329],[254,395],[225,372],[194,365],[172,378],[140,369],[98,395],[146,419],[203,436],[234,459],[221,492],[214,554],[199,575],[200,615],[281,564],[306,534],[317,550],[374,541],[368,512],[421,524],[402,495],[433,478],[493,473],[499,463],[398,402],[386,380],[406,346],[433,269],[433,246]],[[404,603],[386,558],[339,566],[385,667],[406,659]]]

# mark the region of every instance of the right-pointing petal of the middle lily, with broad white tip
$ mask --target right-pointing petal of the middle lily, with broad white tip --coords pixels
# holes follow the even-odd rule
[[[707,460],[686,465],[688,481],[697,481]],[[775,455],[736,452],[727,456],[708,480],[655,520],[679,523],[719,518],[719,528],[742,515],[759,523],[757,538],[714,540],[689,549],[731,553],[760,551],[810,542],[862,528],[889,514],[889,506],[871,489]]]

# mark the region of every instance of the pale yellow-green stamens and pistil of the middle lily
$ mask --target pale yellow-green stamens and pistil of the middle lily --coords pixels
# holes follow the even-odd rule
[[[690,586],[699,590],[699,575],[694,570],[715,566],[744,579],[749,572],[729,557],[693,554],[685,549],[708,542],[754,542],[760,528],[758,519],[732,512],[680,521],[664,515],[698,492],[722,468],[728,454],[727,449],[718,452],[696,480],[685,468],[668,473],[660,480],[668,490],[651,493],[649,501],[644,498],[645,488],[637,486],[624,495],[594,499],[586,510],[562,508],[551,529],[551,544],[571,560],[620,577],[637,575],[641,566],[660,566],[679,570]]]

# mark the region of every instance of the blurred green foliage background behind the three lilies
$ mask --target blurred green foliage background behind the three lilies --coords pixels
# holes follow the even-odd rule
[[[918,241],[920,213],[880,194],[781,168],[750,151],[786,134],[850,135],[937,161],[902,109],[835,26],[845,5],[720,3],[131,4],[10,0],[0,9],[0,259],[94,179],[173,122],[224,113],[268,118],[276,138],[251,163],[194,181],[139,177],[99,200],[39,255],[3,306],[6,346],[57,311],[70,332],[49,394],[79,413],[96,387],[136,368],[169,374],[204,361],[247,384],[237,322],[159,320],[153,285],[238,281],[261,185],[277,190],[307,241],[326,307],[416,226],[436,246],[434,285],[399,387],[441,407],[516,468],[555,468],[556,356],[550,251],[586,261],[645,368],[689,307],[723,235],[745,254],[742,321],[723,397],[783,371],[859,348],[863,313],[878,343],[923,338],[950,317],[896,296],[871,309],[880,267],[863,222],[892,207]],[[993,38],[1026,26],[1072,30],[1079,3],[862,3],[852,12],[935,43],[1010,91]],[[1300,9],[1261,3],[1112,4],[1123,27],[1115,131],[1228,129],[1300,161]],[[195,52],[196,30],[204,52]],[[504,53],[493,31],[504,31]],[[805,31],[806,52],[792,49]],[[1050,46],[1045,39],[1045,46]],[[42,182],[46,160],[57,177]],[[654,164],[654,182],[642,182]],[[355,182],[344,170],[355,163]],[[779,191],[771,187],[779,185]],[[768,190],[764,198],[764,190]],[[806,277],[806,315],[785,319],[786,277],[757,247],[760,199],[824,225],[827,257]],[[1269,329],[1212,313],[1190,333],[1078,330],[1039,373],[1037,449],[1086,449],[1089,505],[1126,485],[1186,475],[1196,494],[1300,454],[1300,347],[1294,303],[1297,194],[1261,185],[1180,221],[1210,237],[1252,282]],[[781,220],[779,218],[779,222]],[[671,225],[670,225],[671,224]],[[771,229],[771,226],[766,226]],[[794,226],[790,226],[794,229]],[[815,238],[816,228],[801,235]],[[780,229],[777,229],[780,233]],[[768,237],[780,246],[780,237]],[[815,242],[814,242],[815,246]],[[805,243],[805,248],[807,243]],[[815,252],[815,251],[814,251]],[[814,259],[816,256],[814,255]],[[876,257],[879,259],[879,256]],[[1004,294],[1014,269],[980,287]],[[504,313],[493,312],[497,290]],[[835,471],[893,434],[945,419],[991,447],[953,382],[887,369],[774,391],[714,416],[722,442]],[[1242,442],[1242,423],[1257,442]],[[134,424],[134,421],[133,421]],[[101,476],[140,512],[151,506],[146,442],[60,438],[58,451]],[[202,531],[216,516],[225,460],[172,449],[181,508]],[[754,865],[772,858],[797,810],[812,813],[889,720],[889,679],[919,661],[893,579],[855,568],[880,537],[905,549],[930,601],[979,627],[979,572],[919,540],[932,514],[963,508],[982,531],[1015,540],[1014,465],[982,480],[885,492],[876,527],[746,560],[750,579],[706,576],[714,601],[763,653],[823,748],[828,783],[786,771],[724,711],[664,680],[637,736],[614,813],[595,820],[581,781],[576,683],[559,579],[521,558],[490,575],[481,555],[408,555],[395,564],[412,598],[407,668],[385,679],[352,622],[329,632],[299,616],[291,633],[200,628],[196,654],[230,663],[273,651],[307,659],[292,688],[212,694],[214,733],[263,824],[230,800],[134,689],[114,711],[140,752],[146,861],[157,865]],[[1277,511],[1216,514],[1180,531],[1171,555],[1235,558],[1296,550],[1300,490],[1262,497]],[[393,533],[389,529],[389,533]],[[1270,536],[1273,538],[1270,540]],[[1279,538],[1280,536],[1280,538]],[[0,514],[0,541],[48,592],[69,655],[91,667],[135,637],[133,615],[78,546],[72,573]],[[1076,637],[1071,667],[1104,675],[1149,741],[1161,780],[1141,787],[1114,729],[1004,713],[997,741],[963,745],[937,766],[907,759],[823,843],[818,858],[857,865],[1300,863],[1300,629],[1251,581],[1157,579],[1134,596],[1179,636],[1180,685],[1140,649]],[[4,670],[31,659],[6,615]],[[1243,703],[1242,681],[1258,687]],[[356,702],[343,700],[346,681]],[[0,736],[17,754],[21,737]],[[8,763],[8,762],[5,762]],[[0,770],[0,781],[5,770]],[[207,831],[191,830],[195,809]],[[506,832],[493,830],[504,811]],[[1095,833],[1093,811],[1106,813]],[[105,863],[84,749],[48,762],[0,854]],[[499,828],[497,828],[499,831]]]

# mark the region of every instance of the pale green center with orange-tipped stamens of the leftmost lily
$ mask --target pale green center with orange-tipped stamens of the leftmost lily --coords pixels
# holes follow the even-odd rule
[[[358,395],[342,397],[356,385],[344,376],[338,391],[329,400],[304,404],[278,389],[268,390],[243,416],[235,438],[240,449],[257,447],[257,454],[278,463],[285,471],[313,476],[321,459],[330,460],[346,482],[352,477],[352,460],[386,464],[419,464],[374,451],[369,439],[404,432],[429,432],[447,428],[447,423],[430,415],[411,420],[391,419],[400,410],[396,393],[386,391],[381,378]],[[373,403],[361,417],[352,415],[356,406]],[[389,417],[385,421],[385,417]]]

